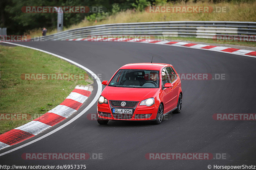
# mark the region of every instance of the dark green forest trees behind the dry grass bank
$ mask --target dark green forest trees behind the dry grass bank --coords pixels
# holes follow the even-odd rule
[[[166,2],[180,2],[181,0],[0,0],[0,27],[7,27],[9,35],[23,35],[28,30],[46,27],[57,27],[57,13],[23,13],[22,6],[103,6],[104,13],[65,13],[64,26],[68,27],[81,22],[84,18],[93,21],[118,11],[134,9],[142,11],[148,5],[163,4]],[[186,3],[189,0],[183,0]],[[217,3],[223,0],[206,0]],[[226,2],[229,0],[226,0]],[[230,0],[231,1],[231,0]],[[196,2],[196,0],[193,0]]]

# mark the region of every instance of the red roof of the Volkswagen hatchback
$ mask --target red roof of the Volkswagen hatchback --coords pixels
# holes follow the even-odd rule
[[[164,67],[172,66],[164,63],[131,63],[122,66],[120,69],[142,69],[142,70],[161,70]]]

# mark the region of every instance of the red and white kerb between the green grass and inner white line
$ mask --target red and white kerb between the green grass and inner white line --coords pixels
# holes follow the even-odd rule
[[[66,99],[43,116],[0,135],[0,150],[32,138],[75,113],[91,95],[92,86],[76,86]]]

